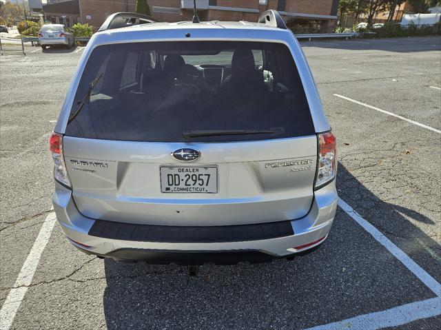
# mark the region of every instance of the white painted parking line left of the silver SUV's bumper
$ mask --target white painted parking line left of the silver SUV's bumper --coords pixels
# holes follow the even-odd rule
[[[12,322],[14,321],[15,315],[19,310],[21,302],[23,301],[26,291],[28,291],[28,287],[32,282],[35,271],[37,270],[41,254],[43,253],[46,244],[48,244],[50,234],[52,233],[52,229],[54,229],[55,220],[57,220],[57,216],[55,216],[54,212],[51,212],[45,218],[39,235],[37,236],[32,249],[30,249],[28,258],[26,258],[23,267],[21,267],[19,276],[17,276],[14,286],[12,289],[10,289],[8,297],[6,297],[5,302],[3,302],[3,306],[1,306],[1,330],[10,329]]]

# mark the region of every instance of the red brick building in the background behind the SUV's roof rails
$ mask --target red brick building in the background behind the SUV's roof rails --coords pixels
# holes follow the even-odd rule
[[[133,12],[136,3],[136,0],[70,0],[57,5],[74,1],[79,3],[78,21],[95,28],[114,12]],[[147,3],[158,21],[186,21],[193,16],[193,0],[147,0]],[[261,12],[276,9],[290,28],[314,25],[320,32],[332,30],[338,10],[338,0],[196,0],[196,5],[201,21],[257,21]],[[45,12],[48,6],[52,5],[44,6]]]

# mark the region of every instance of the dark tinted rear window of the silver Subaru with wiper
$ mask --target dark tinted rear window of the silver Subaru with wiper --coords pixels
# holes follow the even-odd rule
[[[311,134],[305,91],[287,46],[243,41],[99,46],[66,127],[68,136],[151,142]]]

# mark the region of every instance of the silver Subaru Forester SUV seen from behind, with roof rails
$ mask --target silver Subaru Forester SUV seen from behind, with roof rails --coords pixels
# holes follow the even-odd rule
[[[336,138],[294,34],[116,13],[85,48],[50,138],[68,240],[115,260],[292,258],[331,229]]]

